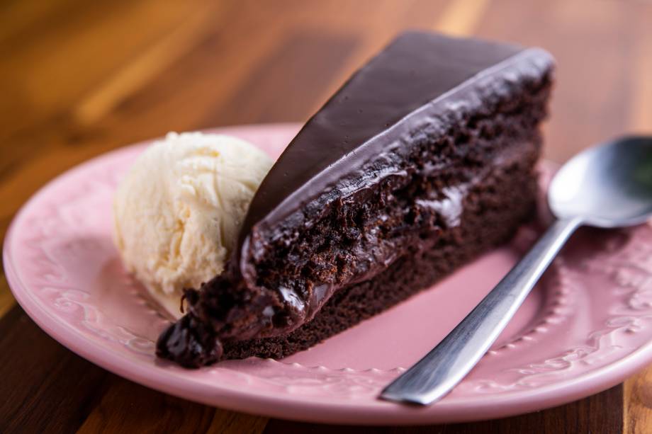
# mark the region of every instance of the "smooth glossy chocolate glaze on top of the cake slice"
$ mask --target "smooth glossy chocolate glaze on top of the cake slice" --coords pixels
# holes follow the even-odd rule
[[[242,235],[255,224],[273,224],[290,214],[323,193],[352,164],[393,142],[388,130],[400,130],[406,115],[522,50],[483,40],[403,33],[359,69],[288,145],[254,197]],[[536,55],[549,60],[544,52]],[[381,144],[369,146],[372,141]],[[358,152],[361,147],[364,152]]]

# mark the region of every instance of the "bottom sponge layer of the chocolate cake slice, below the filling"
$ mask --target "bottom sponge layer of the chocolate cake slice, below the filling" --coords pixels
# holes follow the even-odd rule
[[[461,224],[437,241],[432,249],[403,256],[383,273],[336,292],[312,321],[285,336],[225,343],[224,358],[252,356],[283,358],[314,346],[326,338],[383,312],[449,275],[480,253],[510,239],[514,228],[532,215],[537,185],[529,149],[522,162],[495,173],[473,188],[463,201]],[[472,210],[485,208],[482,215]]]

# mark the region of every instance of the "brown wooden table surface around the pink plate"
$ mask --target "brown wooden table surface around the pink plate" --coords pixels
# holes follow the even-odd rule
[[[546,156],[652,128],[649,1],[6,0],[0,5],[0,230],[41,185],[169,130],[302,121],[403,28],[540,45],[558,59]],[[0,280],[0,432],[322,433],[141,387],[40,331]],[[652,369],[499,421],[378,432],[644,433]],[[339,427],[340,433],[365,429]],[[376,432],[376,428],[369,432]]]

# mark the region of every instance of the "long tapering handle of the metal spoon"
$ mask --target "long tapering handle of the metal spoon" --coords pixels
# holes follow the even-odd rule
[[[386,387],[382,399],[428,405],[448,394],[505,329],[582,220],[554,222],[532,249],[442,342]]]

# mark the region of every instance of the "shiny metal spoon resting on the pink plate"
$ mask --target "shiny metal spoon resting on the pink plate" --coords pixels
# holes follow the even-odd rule
[[[575,229],[626,227],[652,216],[652,137],[626,137],[587,149],[559,170],[548,190],[557,217],[541,239],[444,340],[381,393],[432,404],[489,350]]]

